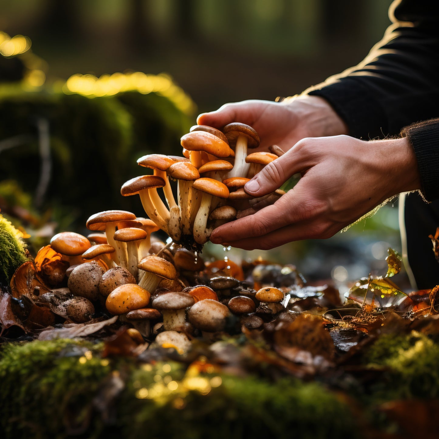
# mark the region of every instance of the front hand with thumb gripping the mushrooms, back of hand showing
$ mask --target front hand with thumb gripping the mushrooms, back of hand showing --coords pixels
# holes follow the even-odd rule
[[[267,250],[290,241],[328,238],[396,194],[421,188],[407,138],[364,141],[305,138],[246,185],[261,197],[295,173],[296,186],[273,205],[213,230],[215,244]]]

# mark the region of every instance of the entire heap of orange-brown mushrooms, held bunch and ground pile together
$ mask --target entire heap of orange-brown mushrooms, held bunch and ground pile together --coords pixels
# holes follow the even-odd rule
[[[152,168],[153,175],[122,186],[122,195],[140,195],[148,218],[123,210],[99,212],[86,222],[88,236],[61,232],[52,237],[50,247],[68,261],[68,294],[81,307],[69,314],[71,320],[90,320],[95,307],[101,307],[155,345],[184,352],[194,336],[211,338],[231,322],[261,326],[267,316],[285,309],[289,296],[261,276],[255,284],[257,273],[245,274],[227,257],[209,262],[196,251],[219,223],[237,217],[242,203],[234,207],[233,202],[250,199],[243,185],[278,155],[247,155],[248,148],[259,145],[259,137],[240,123],[227,125],[223,132],[194,126],[181,144],[183,157],[139,158],[139,165]],[[178,203],[169,180],[177,181]],[[172,241],[159,239],[154,234],[159,229]],[[258,264],[251,268],[258,270]],[[294,284],[295,268],[286,271]]]

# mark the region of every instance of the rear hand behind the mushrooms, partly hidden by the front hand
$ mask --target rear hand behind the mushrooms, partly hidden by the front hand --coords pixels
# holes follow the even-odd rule
[[[276,144],[288,151],[305,137],[347,134],[342,119],[318,96],[301,95],[282,102],[250,100],[224,104],[197,119],[199,125],[218,129],[231,122],[245,123],[256,130],[261,139],[259,150]]]

